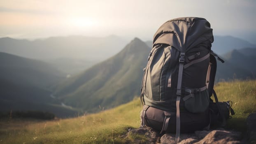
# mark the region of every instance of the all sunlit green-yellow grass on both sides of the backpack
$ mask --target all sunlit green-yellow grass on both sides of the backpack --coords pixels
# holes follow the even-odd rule
[[[229,129],[245,130],[247,116],[256,112],[256,81],[232,81],[216,84],[219,101],[233,101],[235,115],[228,120]],[[121,137],[129,128],[140,126],[140,100],[97,114],[54,121],[2,119],[0,144],[119,144],[141,138],[142,135]],[[142,142],[144,142],[142,141]]]

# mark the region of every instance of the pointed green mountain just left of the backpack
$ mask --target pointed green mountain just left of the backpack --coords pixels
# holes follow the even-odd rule
[[[66,105],[83,107],[89,112],[128,102],[140,94],[142,69],[149,51],[147,44],[135,38],[115,56],[66,79],[54,96]]]

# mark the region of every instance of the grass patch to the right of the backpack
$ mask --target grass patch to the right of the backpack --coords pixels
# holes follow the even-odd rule
[[[228,119],[227,128],[244,132],[247,116],[256,112],[256,80],[221,82],[214,89],[220,102],[233,102],[235,115]]]

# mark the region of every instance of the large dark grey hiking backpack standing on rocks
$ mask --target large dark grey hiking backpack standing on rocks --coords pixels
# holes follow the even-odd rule
[[[180,132],[209,129],[215,56],[224,62],[211,50],[213,40],[203,18],[172,19],[157,30],[142,78],[142,126],[176,132],[177,141]]]

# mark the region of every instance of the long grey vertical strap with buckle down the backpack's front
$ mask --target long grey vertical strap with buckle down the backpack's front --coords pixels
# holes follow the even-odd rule
[[[184,68],[184,61],[185,61],[185,53],[180,53],[179,57],[179,73],[178,73],[178,82],[177,82],[177,99],[176,99],[176,137],[175,140],[179,141],[180,135],[180,117],[179,117],[179,101],[182,95],[182,74]]]

